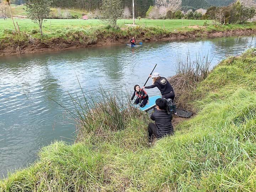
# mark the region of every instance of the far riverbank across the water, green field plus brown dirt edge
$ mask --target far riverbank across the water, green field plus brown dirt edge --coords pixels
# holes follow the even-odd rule
[[[0,22],[0,56],[33,53],[67,48],[88,47],[94,44],[127,43],[131,36],[138,41],[179,40],[198,37],[222,37],[254,34],[254,23],[247,25],[203,25],[202,20],[140,20],[135,27],[118,20],[120,29],[104,25],[100,20],[47,20],[43,36],[35,23],[18,20],[21,33],[13,33],[11,20]],[[187,27],[184,27],[188,25]],[[191,26],[190,26],[191,25]],[[183,27],[181,27],[183,26]]]

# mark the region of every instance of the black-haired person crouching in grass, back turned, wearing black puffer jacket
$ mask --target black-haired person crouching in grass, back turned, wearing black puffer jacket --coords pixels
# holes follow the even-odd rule
[[[174,133],[174,128],[172,126],[172,114],[168,114],[166,111],[167,103],[165,99],[158,98],[156,101],[156,111],[154,111],[150,118],[155,121],[155,123],[149,123],[148,125],[148,138],[149,143],[153,142],[155,138],[162,138],[166,135],[171,135]]]

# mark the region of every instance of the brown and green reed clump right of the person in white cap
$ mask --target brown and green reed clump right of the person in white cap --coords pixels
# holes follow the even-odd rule
[[[196,88],[198,82],[204,80],[210,72],[211,61],[208,54],[196,55],[196,60],[192,60],[190,53],[185,59],[178,56],[176,65],[176,75],[168,78],[175,91],[175,102],[178,107],[193,110],[187,103],[191,100],[191,92]],[[189,98],[190,97],[190,98]]]

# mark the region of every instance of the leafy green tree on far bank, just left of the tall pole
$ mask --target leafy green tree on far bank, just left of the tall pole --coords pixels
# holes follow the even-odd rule
[[[117,19],[123,16],[123,9],[120,0],[102,0],[101,13],[103,21],[111,27],[118,28]]]

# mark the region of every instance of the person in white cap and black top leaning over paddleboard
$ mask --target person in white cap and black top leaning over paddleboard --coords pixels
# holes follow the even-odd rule
[[[153,78],[153,85],[142,87],[142,89],[151,89],[154,87],[158,87],[158,89],[162,94],[162,98],[166,98],[166,99],[170,98],[173,102],[175,93],[170,82],[166,78],[161,77],[159,73],[153,73],[153,75],[149,75],[149,76]]]

